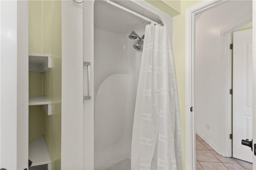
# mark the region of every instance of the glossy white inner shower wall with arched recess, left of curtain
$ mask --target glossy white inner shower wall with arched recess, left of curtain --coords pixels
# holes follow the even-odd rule
[[[108,25],[112,14],[120,18]],[[104,22],[100,16],[105,16]],[[142,51],[133,48],[137,40],[130,40],[128,35],[134,30],[142,36],[146,24],[129,14],[124,16],[124,11],[109,4],[95,2],[94,169],[130,158]]]

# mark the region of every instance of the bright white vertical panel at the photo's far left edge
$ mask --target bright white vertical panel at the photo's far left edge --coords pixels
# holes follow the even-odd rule
[[[1,168],[17,169],[17,1],[1,1]],[[5,17],[5,16],[8,16]],[[8,130],[6,130],[8,128]],[[8,147],[7,147],[8,146]]]

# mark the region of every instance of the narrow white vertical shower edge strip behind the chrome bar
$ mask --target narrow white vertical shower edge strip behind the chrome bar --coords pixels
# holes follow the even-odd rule
[[[84,170],[94,169],[94,1],[83,2],[83,59],[91,62],[91,100],[84,101]],[[84,95],[88,94],[87,68],[84,69]]]

